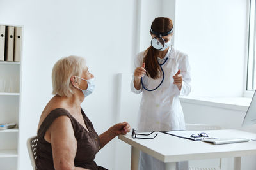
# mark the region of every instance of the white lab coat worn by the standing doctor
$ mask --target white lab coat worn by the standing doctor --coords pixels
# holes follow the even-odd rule
[[[141,67],[143,64],[143,58],[145,57],[145,51],[138,53],[135,59],[135,67]],[[164,59],[159,59],[159,63],[168,57],[168,60],[163,64],[164,80],[161,86],[151,92],[142,88],[136,90],[134,87],[134,77],[131,81],[132,92],[139,94],[142,93],[138,122],[136,130],[137,132],[152,132],[152,131],[170,131],[170,130],[184,130],[185,121],[182,111],[182,107],[179,101],[179,95],[188,96],[191,91],[191,77],[190,66],[188,62],[188,55],[175,50],[173,46],[170,46]],[[177,85],[173,84],[173,76],[180,69],[183,82],[182,88],[179,90]],[[152,79],[145,75],[143,77],[143,84],[147,89],[154,89],[159,85],[163,79],[163,74],[160,78]],[[156,137],[157,138],[157,137]],[[164,169],[163,162],[150,157],[146,153],[140,153],[140,169]],[[188,162],[178,162],[177,169],[187,170]]]

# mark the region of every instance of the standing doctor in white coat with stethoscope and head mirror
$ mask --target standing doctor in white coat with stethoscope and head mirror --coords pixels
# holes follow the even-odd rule
[[[188,55],[171,45],[173,24],[170,18],[159,17],[152,22],[151,46],[135,59],[132,92],[142,92],[138,113],[138,132],[185,129],[179,95],[191,90]],[[157,137],[156,137],[157,138]],[[188,162],[177,162],[179,170],[188,170]],[[164,163],[147,153],[140,153],[140,169],[164,169]]]

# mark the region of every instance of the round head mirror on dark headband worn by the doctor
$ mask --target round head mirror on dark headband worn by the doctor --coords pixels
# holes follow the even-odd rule
[[[161,50],[164,47],[164,39],[162,38],[162,36],[167,36],[169,34],[172,34],[173,32],[173,27],[170,31],[168,32],[156,32],[153,31],[152,29],[150,29],[150,32],[154,35],[156,35],[154,38],[152,38],[151,40],[151,45],[153,46],[153,48],[155,48],[156,50]]]

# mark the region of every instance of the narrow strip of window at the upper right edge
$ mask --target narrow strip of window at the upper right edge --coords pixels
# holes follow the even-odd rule
[[[253,91],[256,89],[256,66],[255,66],[255,0],[250,1],[249,15],[249,38],[248,38],[248,66],[247,66],[247,83],[246,90]]]

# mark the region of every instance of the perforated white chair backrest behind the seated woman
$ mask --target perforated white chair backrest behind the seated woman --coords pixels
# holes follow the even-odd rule
[[[37,155],[36,155],[37,142],[38,142],[37,136],[33,136],[31,138],[28,138],[27,140],[28,153],[29,153],[31,165],[33,166],[34,170],[36,169],[35,161],[37,159]]]

